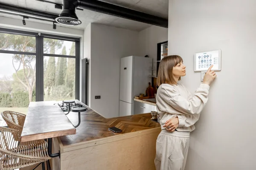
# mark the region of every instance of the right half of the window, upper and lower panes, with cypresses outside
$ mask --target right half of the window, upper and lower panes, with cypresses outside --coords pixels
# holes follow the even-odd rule
[[[75,99],[75,42],[44,38],[44,53],[61,55],[44,56],[44,101]]]

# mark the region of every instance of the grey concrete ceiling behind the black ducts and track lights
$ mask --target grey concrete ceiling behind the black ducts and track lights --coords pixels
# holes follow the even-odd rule
[[[62,0],[48,0],[50,2],[62,4]],[[102,0],[107,3],[113,3],[115,5],[123,6],[126,8],[131,8],[137,11],[141,11],[147,14],[155,15],[157,17],[163,17],[168,19],[168,0]],[[54,4],[44,3],[36,0],[0,0],[0,3],[5,3],[13,6],[19,6],[22,8],[34,9],[37,11],[48,12],[52,14],[60,14],[60,9],[55,9]],[[79,26],[64,26],[58,24],[58,26],[84,29],[89,23],[100,23],[108,26],[115,26],[118,28],[125,28],[134,31],[141,31],[145,28],[150,27],[150,24],[140,23],[133,20],[127,20],[124,18],[114,17],[107,14],[101,14],[89,10],[76,10],[77,17],[81,20],[81,25]],[[9,14],[2,14],[2,17],[9,17],[22,20],[20,16],[13,16]],[[28,19],[38,23],[46,23],[52,25],[52,23],[47,21]],[[21,21],[20,21],[21,22]]]

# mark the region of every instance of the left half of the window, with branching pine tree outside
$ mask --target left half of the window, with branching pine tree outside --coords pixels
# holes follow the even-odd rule
[[[35,37],[0,33],[0,50],[0,112],[26,113],[35,101]]]

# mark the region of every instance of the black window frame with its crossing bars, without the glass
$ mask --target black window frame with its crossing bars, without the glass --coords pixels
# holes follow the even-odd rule
[[[52,35],[52,34],[42,34],[38,32],[30,32],[30,31],[21,31],[9,28],[0,28],[0,33],[6,34],[17,34],[24,36],[32,36],[35,37],[35,53],[32,52],[22,52],[22,51],[9,51],[9,50],[0,50],[0,53],[5,54],[25,54],[25,55],[34,55],[35,58],[35,101],[44,101],[44,56],[49,57],[67,57],[67,58],[75,58],[76,59],[76,85],[75,85],[75,99],[79,100],[79,73],[80,73],[80,38],[76,37],[66,37],[60,35]],[[73,41],[75,42],[76,55],[59,55],[59,54],[44,54],[44,38],[51,38],[56,40],[64,40],[64,41]]]

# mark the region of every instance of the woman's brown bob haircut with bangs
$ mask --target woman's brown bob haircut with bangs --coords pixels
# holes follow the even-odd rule
[[[163,57],[163,59],[160,61],[159,68],[158,68],[158,75],[157,75],[158,86],[164,83],[173,84],[173,85],[177,84],[177,82],[175,81],[172,75],[172,69],[180,62],[183,62],[183,59],[178,55]]]

